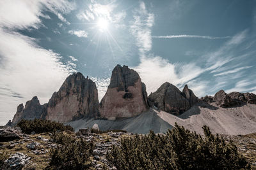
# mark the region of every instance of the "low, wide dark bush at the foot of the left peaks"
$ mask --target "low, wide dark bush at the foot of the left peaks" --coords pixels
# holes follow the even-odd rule
[[[21,131],[26,134],[31,134],[31,132],[35,131],[36,133],[43,132],[53,132],[53,131],[65,131],[69,130],[74,132],[74,129],[70,125],[63,125],[58,122],[52,122],[51,120],[42,120],[42,119],[34,119],[34,120],[20,120],[17,124],[20,127]]]

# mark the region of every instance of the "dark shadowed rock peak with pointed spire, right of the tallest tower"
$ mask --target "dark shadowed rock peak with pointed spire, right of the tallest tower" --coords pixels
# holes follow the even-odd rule
[[[163,83],[156,92],[148,96],[148,101],[160,110],[180,115],[198,101],[198,97],[185,85],[183,92],[171,83]]]

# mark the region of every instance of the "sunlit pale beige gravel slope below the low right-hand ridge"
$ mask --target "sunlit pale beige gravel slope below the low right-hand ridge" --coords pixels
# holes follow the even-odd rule
[[[256,104],[246,104],[236,108],[219,108],[212,104],[197,104],[179,117],[164,111],[157,115],[171,125],[175,122],[186,129],[203,133],[202,126],[207,125],[215,134],[249,134],[256,132]]]

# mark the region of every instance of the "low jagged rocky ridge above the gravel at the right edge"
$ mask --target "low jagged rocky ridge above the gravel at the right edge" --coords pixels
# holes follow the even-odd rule
[[[216,103],[222,108],[230,108],[242,106],[246,103],[256,104],[256,95],[253,93],[240,92],[231,92],[227,94],[224,90],[220,90],[214,95],[214,97],[205,96],[201,97],[201,100],[207,103]]]

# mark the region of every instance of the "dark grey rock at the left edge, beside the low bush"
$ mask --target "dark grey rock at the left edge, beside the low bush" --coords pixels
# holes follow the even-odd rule
[[[19,128],[1,127],[0,129],[0,142],[13,141],[22,138],[23,134]]]

